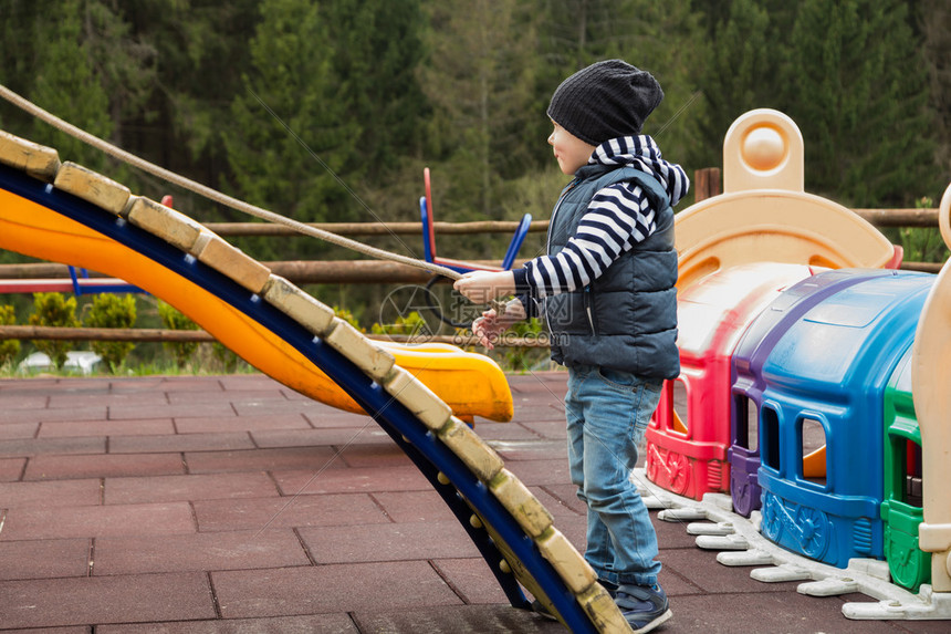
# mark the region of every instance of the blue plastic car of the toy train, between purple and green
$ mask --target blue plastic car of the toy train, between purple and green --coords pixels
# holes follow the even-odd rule
[[[839,568],[884,557],[885,388],[934,281],[909,271],[855,274],[864,279],[805,302],[808,310],[772,337],[761,371],[761,530]],[[823,446],[825,468],[807,469],[806,457]]]

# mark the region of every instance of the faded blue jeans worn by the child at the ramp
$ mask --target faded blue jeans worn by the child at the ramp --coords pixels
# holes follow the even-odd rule
[[[587,507],[585,559],[617,584],[654,585],[660,572],[657,533],[630,480],[660,386],[627,372],[568,368],[568,462]]]

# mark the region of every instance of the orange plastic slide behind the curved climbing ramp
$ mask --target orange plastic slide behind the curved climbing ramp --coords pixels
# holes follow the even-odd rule
[[[242,358],[312,398],[363,413],[320,367],[307,362],[253,319],[213,292],[82,224],[9,191],[0,193],[0,248],[97,271],[116,271],[133,284],[171,303]],[[505,377],[489,357],[451,346],[415,349],[385,344],[397,365],[419,378],[456,413],[470,419],[512,417]]]

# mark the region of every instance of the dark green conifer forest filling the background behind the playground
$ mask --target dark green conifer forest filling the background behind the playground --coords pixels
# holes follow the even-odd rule
[[[147,160],[307,222],[417,220],[424,166],[439,220],[547,219],[566,183],[546,144],[548,98],[608,58],[657,76],[666,98],[644,133],[691,176],[721,165],[738,116],[772,107],[803,133],[807,191],[857,208],[933,207],[951,181],[948,0],[0,3],[0,83]],[[251,220],[6,102],[0,128],[136,194],[171,194],[200,221]],[[313,238],[234,241],[262,261],[357,257]],[[508,241],[439,240],[467,259],[501,258]],[[422,252],[416,237],[375,243]],[[938,238],[923,245],[907,258],[947,256]],[[0,262],[19,261],[0,251]],[[386,289],[313,292],[372,322]]]

